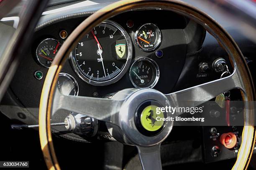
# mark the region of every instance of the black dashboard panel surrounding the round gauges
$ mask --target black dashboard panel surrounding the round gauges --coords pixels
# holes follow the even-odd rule
[[[144,16],[145,13],[150,14],[151,11],[141,10],[128,13],[129,14],[120,14],[110,18],[110,21],[118,23],[118,25],[124,28],[125,32],[127,32],[131,38],[132,56],[128,69],[125,70],[124,75],[120,77],[120,80],[117,82],[107,86],[95,86],[85,82],[81,79],[81,77],[79,77],[73,67],[72,60],[69,59],[61,72],[68,73],[74,77],[79,86],[79,95],[103,97],[124,88],[134,87],[130,80],[128,70],[130,69],[132,63],[139,57],[150,58],[151,60],[154,60],[159,67],[160,76],[154,88],[163,93],[172,92],[179,75],[182,72],[187,53],[197,52],[201,49],[202,41],[205,36],[205,30],[199,25],[195,24],[195,27],[195,25],[188,24],[189,22],[191,23],[191,21],[187,20],[181,15],[177,15],[176,13],[169,11],[156,10],[154,11],[154,15],[150,15],[151,17],[143,18],[143,20],[141,20],[141,18],[138,18],[137,16]],[[169,16],[168,19],[166,18],[166,22],[159,20],[159,16],[165,15]],[[53,23],[35,32],[33,45],[31,49],[28,49],[26,59],[20,63],[20,67],[26,68],[20,69],[20,75],[26,75],[26,78],[17,75],[14,77],[10,86],[18,98],[23,102],[23,105],[28,108],[38,107],[44,77],[48,71],[48,68],[42,66],[36,57],[36,49],[38,45],[40,45],[43,40],[48,38],[52,38],[60,42],[60,44],[63,44],[65,39],[60,38],[59,32],[61,30],[66,30],[67,35],[69,35],[72,30],[74,30],[85,18],[86,17],[66,19]],[[133,21],[132,28],[127,26],[128,20]],[[151,52],[141,50],[133,38],[135,37],[136,30],[146,23],[154,23],[154,25],[156,25],[161,31],[161,44],[156,50],[162,51],[162,57],[156,56],[156,50]],[[196,45],[192,45],[191,43],[187,42],[187,31],[192,31],[193,29],[195,29],[195,31],[200,31],[200,34],[197,34],[197,38],[193,37],[195,39],[193,43]],[[201,44],[198,45],[198,43]],[[43,78],[41,80],[37,80],[34,77],[34,73],[37,70],[40,70],[43,73]],[[31,93],[31,95],[28,95],[28,87],[26,86],[26,82],[32,82],[30,88],[38,90],[33,92],[33,94]]]

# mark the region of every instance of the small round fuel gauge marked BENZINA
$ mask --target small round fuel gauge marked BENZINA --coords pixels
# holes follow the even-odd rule
[[[150,58],[140,57],[130,69],[130,80],[134,87],[153,88],[159,80],[159,67]]]

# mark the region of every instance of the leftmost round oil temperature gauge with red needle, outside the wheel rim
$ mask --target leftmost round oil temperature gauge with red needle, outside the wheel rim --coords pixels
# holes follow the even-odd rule
[[[61,43],[52,38],[47,38],[40,42],[36,48],[36,57],[38,62],[44,67],[50,67],[55,55],[57,54]]]

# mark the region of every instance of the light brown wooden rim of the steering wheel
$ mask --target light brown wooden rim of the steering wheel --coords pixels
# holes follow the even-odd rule
[[[59,77],[59,72],[66,62],[69,53],[72,51],[77,42],[85,34],[87,34],[87,32],[90,32],[90,30],[92,30],[93,27],[95,27],[98,23],[118,15],[119,13],[132,9],[143,8],[161,8],[164,10],[172,10],[203,25],[205,29],[210,32],[218,40],[220,45],[228,52],[231,64],[234,65],[236,62],[237,69],[241,74],[241,79],[245,86],[245,95],[243,95],[243,100],[255,100],[252,77],[241,51],[230,35],[218,23],[216,23],[215,20],[210,18],[209,15],[185,2],[178,0],[123,0],[115,2],[92,14],[90,17],[84,20],[72,32],[72,34],[69,35],[54,58],[54,61],[46,75],[39,107],[39,135],[41,149],[44,154],[46,165],[49,169],[60,169],[51,138],[50,117],[56,82]],[[233,57],[231,57],[231,55]],[[242,143],[233,169],[246,169],[248,167],[255,143],[253,111],[249,110],[244,114],[246,115],[244,115],[245,126],[243,128]]]

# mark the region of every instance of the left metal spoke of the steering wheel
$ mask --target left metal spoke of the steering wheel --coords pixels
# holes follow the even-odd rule
[[[54,115],[58,110],[69,110],[97,120],[116,124],[113,117],[118,114],[122,103],[122,100],[63,95],[59,90],[56,90],[51,112]]]

